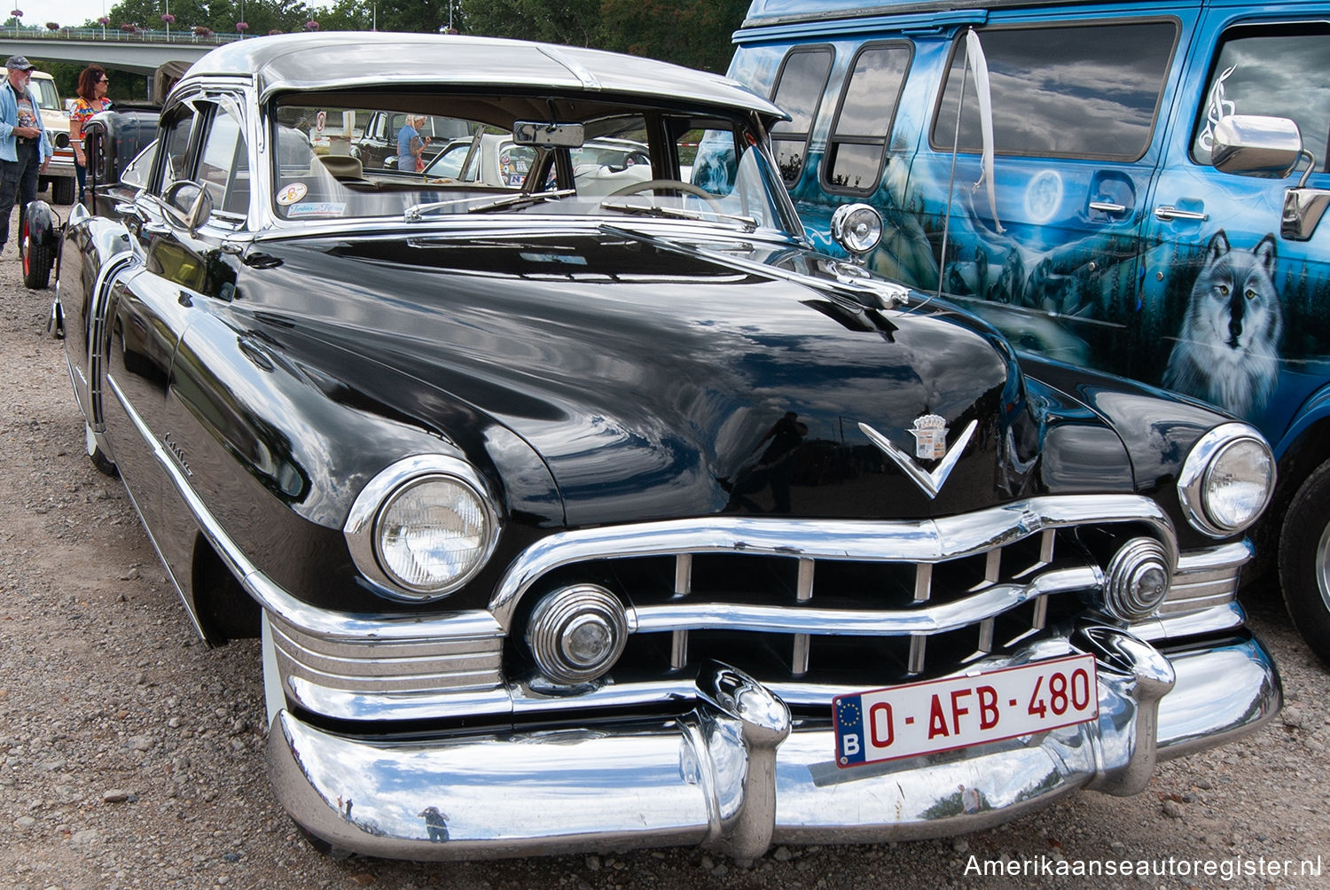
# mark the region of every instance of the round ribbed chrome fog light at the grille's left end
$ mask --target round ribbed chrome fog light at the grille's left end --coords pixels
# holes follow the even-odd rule
[[[628,644],[624,605],[602,587],[576,584],[547,595],[531,613],[527,648],[540,672],[560,684],[605,674]]]

